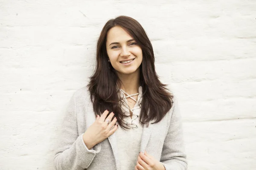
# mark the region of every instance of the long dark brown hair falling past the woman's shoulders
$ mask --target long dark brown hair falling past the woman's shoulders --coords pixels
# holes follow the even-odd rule
[[[120,26],[140,46],[143,52],[143,60],[140,65],[140,86],[143,89],[143,97],[141,102],[140,122],[147,124],[149,121],[153,123],[160,122],[166,113],[172,108],[173,95],[166,88],[167,85],[162,84],[157,76],[154,66],[154,52],[148,36],[137,20],[131,17],[119,16],[115,19],[108,20],[102,28],[99,40],[97,42],[96,53],[96,69],[90,77],[87,85],[90,91],[90,99],[93,102],[93,111],[95,114],[102,114],[106,109],[109,113],[113,111],[124,129],[129,129],[123,117],[121,105],[118,96],[118,88],[116,85],[122,83],[118,78],[115,69],[108,62],[108,54],[106,49],[106,38],[108,31],[114,26]],[[119,86],[120,87],[120,86]]]

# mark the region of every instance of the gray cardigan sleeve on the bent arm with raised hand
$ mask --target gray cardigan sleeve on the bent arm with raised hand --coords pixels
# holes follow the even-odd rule
[[[55,170],[84,170],[89,167],[100,145],[89,150],[84,144],[83,134],[79,135],[76,117],[76,93],[70,99],[65,111],[64,120],[55,150]]]

